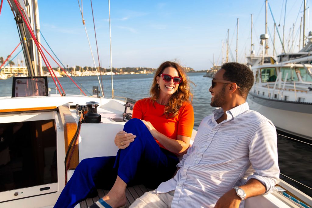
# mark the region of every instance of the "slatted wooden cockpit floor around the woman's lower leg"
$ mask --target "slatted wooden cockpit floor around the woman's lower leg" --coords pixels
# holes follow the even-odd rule
[[[127,203],[126,207],[129,207],[137,198],[142,196],[145,192],[151,191],[152,189],[146,188],[144,185],[135,185],[126,188]],[[108,191],[103,189],[98,189],[99,195],[94,198],[88,198],[85,201],[80,202],[81,208],[87,208],[98,201],[100,198],[105,196]]]

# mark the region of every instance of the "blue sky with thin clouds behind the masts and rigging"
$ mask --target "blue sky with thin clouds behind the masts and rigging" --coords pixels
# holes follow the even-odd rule
[[[307,35],[308,31],[312,30],[312,21],[309,21],[312,20],[310,15],[312,2],[306,1],[306,7],[309,7],[306,10]],[[81,0],[79,2],[81,7]],[[303,0],[268,2],[276,24],[280,25],[278,30],[281,38],[284,15],[286,17],[285,49],[297,52]],[[108,1],[93,0],[92,6],[100,63],[102,67],[110,68]],[[78,1],[38,0],[38,7],[41,33],[61,62],[69,67],[94,66]],[[95,63],[98,66],[90,1],[82,1],[82,9]],[[252,42],[255,45],[256,55],[260,55],[262,46],[259,44],[259,37],[265,33],[264,0],[111,0],[112,65],[115,68],[157,68],[163,61],[177,60],[183,66],[192,67],[194,70],[207,70],[212,66],[213,56],[217,64],[220,65],[222,62],[222,41],[225,42],[227,39],[227,29],[229,29],[229,60],[235,61],[237,18],[239,18],[238,62],[244,63],[245,56],[250,54],[251,14],[253,14]],[[293,24],[295,27],[292,36]],[[16,23],[7,1],[3,1],[0,27],[0,56],[6,58],[19,43]],[[269,55],[273,54],[273,28],[274,22],[268,8],[268,30],[269,35],[271,34]],[[41,43],[48,48],[42,37]],[[275,48],[278,54],[281,53],[277,33]],[[17,49],[12,56],[20,50],[21,48]],[[22,59],[21,54],[17,56],[19,59]],[[49,61],[52,67],[56,66],[53,60]],[[17,59],[13,62],[17,63]]]

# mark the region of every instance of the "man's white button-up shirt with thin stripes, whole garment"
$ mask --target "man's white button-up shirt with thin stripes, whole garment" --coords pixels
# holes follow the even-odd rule
[[[280,173],[275,126],[247,102],[228,110],[218,124],[223,113],[217,108],[202,120],[176,176],[158,186],[158,193],[175,190],[171,207],[214,207],[224,193],[251,178],[261,181],[266,193],[274,190]]]

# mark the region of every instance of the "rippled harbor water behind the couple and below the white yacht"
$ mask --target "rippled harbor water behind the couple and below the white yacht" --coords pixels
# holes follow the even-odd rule
[[[211,85],[211,78],[203,77],[205,73],[188,73],[191,84],[194,108],[194,128],[197,130],[201,120],[211,114],[214,109],[210,106],[211,94],[208,89]],[[152,74],[134,74],[134,75],[113,75],[114,95],[118,97],[128,97],[135,100],[149,97],[149,89],[153,80]],[[92,86],[100,85],[97,76],[72,77],[82,86],[87,95],[92,94]],[[68,78],[58,78],[66,94],[80,94],[80,90]],[[56,94],[56,87],[51,78],[48,78],[48,87],[51,88],[50,94]],[[112,97],[111,76],[102,76],[104,95],[107,98]],[[12,78],[0,80],[0,97],[11,96]],[[88,92],[88,93],[87,93]],[[100,94],[101,95],[101,94]],[[308,127],[307,127],[308,128]],[[283,134],[281,132],[278,132]],[[283,134],[284,135],[284,134]],[[287,135],[290,136],[291,135]],[[307,141],[311,143],[311,141]],[[278,135],[278,157],[280,166],[280,178],[295,186],[304,193],[312,196],[312,145],[300,141],[292,140],[285,136]],[[285,177],[285,176],[287,177]],[[293,179],[289,179],[289,178]],[[295,181],[298,182],[295,182]],[[303,185],[301,185],[301,184]],[[308,187],[306,187],[308,186]]]

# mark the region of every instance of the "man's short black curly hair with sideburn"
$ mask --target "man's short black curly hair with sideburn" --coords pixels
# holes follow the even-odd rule
[[[225,63],[221,66],[225,70],[223,79],[235,82],[240,88],[238,88],[241,96],[247,98],[248,92],[254,84],[254,75],[252,71],[244,64],[237,62]]]

